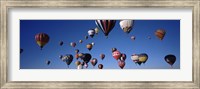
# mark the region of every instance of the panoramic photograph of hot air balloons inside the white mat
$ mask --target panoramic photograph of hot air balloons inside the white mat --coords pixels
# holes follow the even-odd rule
[[[20,69],[180,69],[180,20],[20,20]]]

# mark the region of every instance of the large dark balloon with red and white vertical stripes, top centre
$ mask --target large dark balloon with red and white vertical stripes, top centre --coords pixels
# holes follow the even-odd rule
[[[96,20],[97,27],[101,29],[107,37],[111,30],[114,28],[116,20]]]

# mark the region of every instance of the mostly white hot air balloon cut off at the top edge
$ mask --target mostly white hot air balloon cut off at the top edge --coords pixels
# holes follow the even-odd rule
[[[133,28],[133,24],[134,21],[133,20],[121,20],[119,22],[119,25],[121,27],[121,29],[125,32],[125,33],[130,33],[132,28]]]

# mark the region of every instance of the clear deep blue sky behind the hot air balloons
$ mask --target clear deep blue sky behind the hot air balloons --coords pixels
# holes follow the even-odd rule
[[[90,53],[92,58],[98,59],[94,69],[98,69],[98,64],[103,64],[104,69],[120,69],[118,62],[112,57],[113,47],[127,55],[124,69],[171,69],[164,60],[168,54],[176,56],[173,68],[180,68],[180,20],[135,20],[129,34],[123,32],[117,20],[107,39],[100,30],[98,35],[85,40],[88,30],[94,28],[94,20],[20,20],[20,48],[24,50],[20,54],[20,68],[67,69],[66,63],[59,59],[59,55],[74,56],[75,49],[79,49],[81,53]],[[162,41],[154,34],[159,28],[166,31]],[[40,50],[35,41],[35,35],[41,32],[50,37],[43,50]],[[131,40],[131,36],[136,39]],[[148,36],[151,39],[148,39]],[[79,40],[83,40],[83,43],[79,43]],[[64,42],[63,46],[59,45],[60,41]],[[71,42],[76,42],[77,46],[71,47]],[[92,42],[95,42],[95,45],[88,51],[86,45]],[[101,53],[105,54],[104,60],[100,59]],[[148,60],[139,66],[131,60],[131,55],[140,53],[146,53]],[[51,64],[47,65],[46,60],[50,60]],[[75,62],[74,58],[70,69],[76,69]],[[88,69],[93,69],[91,63],[88,65]]]

